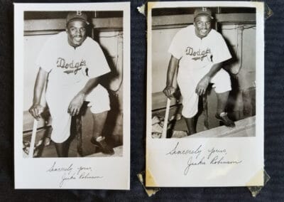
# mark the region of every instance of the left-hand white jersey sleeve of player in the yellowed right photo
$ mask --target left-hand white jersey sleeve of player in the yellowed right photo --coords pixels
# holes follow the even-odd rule
[[[178,33],[175,34],[173,37],[173,41],[170,43],[170,48],[168,49],[168,53],[172,54],[175,58],[180,60],[182,58],[182,40],[184,37],[182,37],[181,31],[178,31]]]

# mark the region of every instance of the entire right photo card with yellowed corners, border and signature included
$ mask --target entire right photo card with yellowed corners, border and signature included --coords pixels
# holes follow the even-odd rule
[[[263,184],[262,9],[148,4],[146,185]]]

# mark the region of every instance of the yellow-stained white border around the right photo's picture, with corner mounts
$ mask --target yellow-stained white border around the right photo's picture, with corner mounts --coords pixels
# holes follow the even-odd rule
[[[185,7],[256,8],[256,137],[153,139],[152,126],[152,9]],[[263,186],[264,170],[264,7],[249,1],[167,1],[148,2],[147,37],[147,112],[146,112],[146,186]],[[167,68],[167,67],[165,67]],[[176,146],[180,151],[226,149],[227,157],[239,159],[234,166],[191,166],[188,155],[167,155]],[[203,150],[202,150],[203,151]],[[195,163],[198,164],[199,161]]]

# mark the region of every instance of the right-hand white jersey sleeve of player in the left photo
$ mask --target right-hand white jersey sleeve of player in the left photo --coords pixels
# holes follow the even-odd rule
[[[89,78],[96,78],[110,72],[109,64],[104,56],[102,48],[96,41],[89,43],[89,51],[87,52],[87,68],[89,69]]]

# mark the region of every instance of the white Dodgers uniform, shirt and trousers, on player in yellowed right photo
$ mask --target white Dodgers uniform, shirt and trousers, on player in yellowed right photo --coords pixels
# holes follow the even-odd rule
[[[195,26],[182,28],[173,38],[168,50],[179,61],[178,85],[182,93],[182,115],[193,117],[198,110],[197,83],[215,63],[231,58],[228,47],[220,33],[212,29],[204,38],[195,34]],[[231,90],[231,82],[225,70],[219,70],[211,80],[216,92]]]

